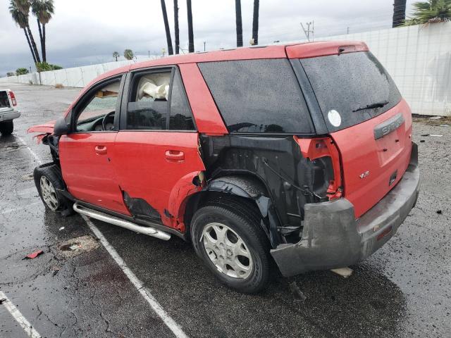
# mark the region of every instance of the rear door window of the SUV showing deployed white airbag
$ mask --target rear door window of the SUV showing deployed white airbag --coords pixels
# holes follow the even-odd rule
[[[138,73],[132,77],[127,109],[127,129],[166,130],[171,70]]]

